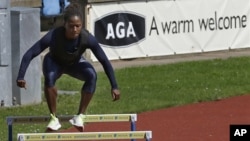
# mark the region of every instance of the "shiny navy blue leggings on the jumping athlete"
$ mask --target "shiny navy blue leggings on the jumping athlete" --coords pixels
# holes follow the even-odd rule
[[[55,82],[62,74],[68,74],[76,79],[85,81],[82,86],[82,93],[87,92],[93,94],[96,89],[97,75],[94,67],[84,60],[71,66],[61,66],[57,64],[48,53],[43,60],[43,75],[45,78],[45,87],[55,86]]]

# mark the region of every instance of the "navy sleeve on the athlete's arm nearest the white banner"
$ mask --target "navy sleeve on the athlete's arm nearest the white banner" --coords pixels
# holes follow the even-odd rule
[[[93,52],[97,60],[102,64],[103,69],[109,78],[112,88],[117,89],[118,85],[115,79],[114,69],[110,61],[108,60],[106,54],[104,53],[101,46],[99,45],[98,41],[95,39],[93,35],[90,34],[88,43],[89,43],[90,50]]]

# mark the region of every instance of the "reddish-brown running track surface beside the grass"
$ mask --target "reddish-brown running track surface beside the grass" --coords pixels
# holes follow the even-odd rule
[[[229,141],[229,125],[249,124],[249,109],[250,95],[160,109],[139,113],[136,130],[151,130],[152,141]],[[85,132],[126,130],[130,130],[127,122],[90,123],[84,129]]]

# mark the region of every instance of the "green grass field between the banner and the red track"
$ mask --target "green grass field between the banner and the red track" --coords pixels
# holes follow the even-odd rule
[[[98,73],[96,93],[87,114],[141,113],[190,103],[213,101],[250,93],[250,57],[182,62],[147,67],[117,69],[121,99],[113,102],[104,72]],[[43,80],[42,80],[43,81]],[[83,82],[64,75],[57,83],[60,90],[80,91]],[[58,115],[77,112],[80,94],[58,97]],[[7,116],[48,115],[46,101],[0,108],[0,141],[7,140]],[[15,125],[17,133],[43,132],[46,124]],[[69,127],[69,124],[63,128]]]

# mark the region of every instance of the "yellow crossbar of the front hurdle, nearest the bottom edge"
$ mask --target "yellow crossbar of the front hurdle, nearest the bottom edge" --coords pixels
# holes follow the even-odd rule
[[[18,141],[65,141],[152,138],[152,131],[82,132],[82,133],[27,133],[18,134]]]

